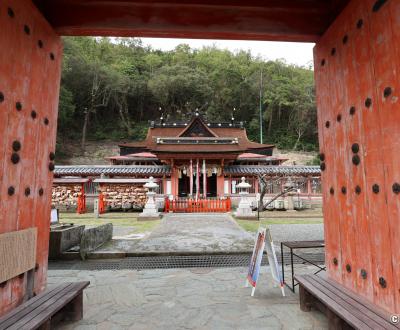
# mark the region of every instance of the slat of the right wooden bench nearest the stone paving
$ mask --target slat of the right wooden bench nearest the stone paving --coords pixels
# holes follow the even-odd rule
[[[333,298],[329,297],[325,292],[325,290],[321,290],[320,284],[311,282],[310,276],[303,275],[303,276],[297,276],[297,281],[304,286],[304,288],[310,292],[312,295],[315,297],[318,297],[318,299],[326,305],[328,308],[332,309],[335,311],[337,315],[339,315],[343,320],[349,321],[351,320],[350,325],[358,328],[358,329],[371,329],[374,330],[374,328],[371,328],[368,324],[364,323],[363,321],[354,318],[352,313],[350,313],[347,309],[339,305]]]

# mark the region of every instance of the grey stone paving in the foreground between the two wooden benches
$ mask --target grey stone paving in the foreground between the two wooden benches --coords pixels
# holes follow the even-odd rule
[[[89,280],[84,318],[59,329],[327,329],[325,316],[304,313],[262,268],[254,297],[246,268],[77,271],[50,270],[49,286]],[[303,272],[310,272],[304,267]]]

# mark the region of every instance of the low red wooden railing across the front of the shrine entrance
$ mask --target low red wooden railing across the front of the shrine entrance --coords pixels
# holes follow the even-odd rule
[[[201,213],[201,212],[229,212],[231,200],[226,199],[165,199],[165,212],[173,213]]]

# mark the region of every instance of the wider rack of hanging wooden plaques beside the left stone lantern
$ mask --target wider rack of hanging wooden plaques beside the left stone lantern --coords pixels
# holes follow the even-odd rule
[[[142,209],[147,200],[147,189],[139,184],[102,184],[100,191],[111,208]]]

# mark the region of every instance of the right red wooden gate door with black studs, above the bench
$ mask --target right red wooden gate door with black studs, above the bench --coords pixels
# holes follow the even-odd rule
[[[315,47],[331,278],[400,313],[400,2],[352,0]]]

